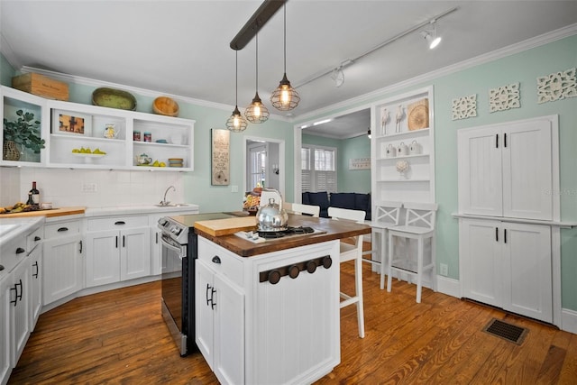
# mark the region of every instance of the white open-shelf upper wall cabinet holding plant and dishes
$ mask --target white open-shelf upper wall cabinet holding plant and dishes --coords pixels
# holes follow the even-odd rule
[[[194,120],[146,114],[96,105],[47,100],[11,87],[0,87],[0,115],[10,121],[16,111],[34,114],[41,122],[41,138],[46,141],[40,154],[21,149],[20,160],[5,160],[1,149],[0,165],[106,170],[194,170]],[[72,124],[70,124],[72,122]],[[106,137],[106,126],[113,124],[115,137]],[[134,133],[140,140],[134,140]],[[144,133],[151,142],[144,142]],[[4,143],[4,131],[0,142]],[[160,142],[157,142],[159,141]],[[78,153],[73,149],[99,149],[105,154]],[[136,157],[164,162],[166,167],[139,166]],[[182,159],[182,167],[169,167],[169,159]]]

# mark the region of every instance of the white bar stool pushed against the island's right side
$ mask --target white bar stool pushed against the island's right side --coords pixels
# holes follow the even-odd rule
[[[334,220],[351,220],[359,224],[364,223],[366,213],[362,210],[351,210],[347,208],[328,207],[328,216]],[[339,262],[354,261],[354,287],[353,296],[340,292],[343,300],[340,307],[347,307],[356,304],[357,321],[359,324],[359,336],[364,338],[364,310],[362,302],[362,235],[353,237],[353,243],[340,243]]]

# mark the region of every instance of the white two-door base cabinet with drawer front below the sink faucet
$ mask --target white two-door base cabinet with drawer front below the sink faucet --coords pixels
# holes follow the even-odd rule
[[[151,274],[147,215],[87,220],[87,288]]]

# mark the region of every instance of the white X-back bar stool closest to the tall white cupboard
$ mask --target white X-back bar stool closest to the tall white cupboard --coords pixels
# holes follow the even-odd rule
[[[438,205],[435,203],[404,203],[407,209],[405,225],[389,227],[389,261],[387,271],[387,291],[392,286],[392,271],[395,270],[400,277],[400,273],[408,274],[410,277],[417,277],[417,303],[421,302],[421,289],[423,287],[423,273],[431,271],[431,287],[436,291],[435,274],[435,215]],[[394,238],[405,240],[405,255],[395,254]],[[417,240],[417,261],[411,258],[409,252],[409,241]],[[425,262],[424,250],[425,240],[431,242],[431,258]],[[393,266],[394,265],[394,266]],[[416,266],[415,266],[416,265]]]

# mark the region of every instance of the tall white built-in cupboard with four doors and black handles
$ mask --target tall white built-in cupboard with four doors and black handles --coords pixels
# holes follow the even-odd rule
[[[558,324],[558,117],[459,130],[462,296]],[[556,314],[556,316],[555,316]]]

